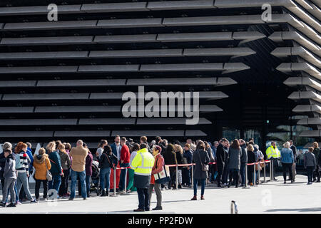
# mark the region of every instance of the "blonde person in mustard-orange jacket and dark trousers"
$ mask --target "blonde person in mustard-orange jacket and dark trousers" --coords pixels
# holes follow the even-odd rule
[[[46,177],[46,172],[47,170],[50,170],[51,164],[48,155],[46,154],[46,150],[43,147],[39,149],[38,155],[34,155],[34,168],[36,169],[36,172],[34,174],[34,179],[36,180],[36,200],[39,201],[39,189],[41,182],[44,186],[44,200],[47,200],[48,180]]]

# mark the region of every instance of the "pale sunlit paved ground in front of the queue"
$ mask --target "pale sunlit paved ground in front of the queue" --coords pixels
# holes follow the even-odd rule
[[[267,182],[250,189],[240,187],[218,189],[215,185],[209,185],[205,188],[205,200],[197,201],[190,201],[193,197],[192,189],[164,190],[161,213],[230,213],[231,200],[238,203],[239,214],[320,213],[320,190],[321,183],[307,185],[307,177],[303,175],[297,175],[295,183],[292,184],[284,185],[282,177],[278,176],[277,182]],[[198,189],[199,198],[200,189]],[[76,198],[73,202],[68,199],[38,204],[24,202],[16,208],[0,208],[0,213],[133,213],[132,209],[136,209],[137,205],[136,192],[118,197],[95,197],[92,194],[86,201]],[[156,195],[153,193],[151,207],[155,206]]]

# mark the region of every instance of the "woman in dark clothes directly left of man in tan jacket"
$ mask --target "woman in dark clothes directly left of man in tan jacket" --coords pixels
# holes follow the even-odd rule
[[[59,188],[60,197],[68,197],[68,177],[69,177],[69,167],[71,166],[71,160],[68,153],[65,150],[65,145],[59,144],[57,147],[58,154],[61,160],[61,167],[63,168],[63,176],[61,177],[61,186]]]

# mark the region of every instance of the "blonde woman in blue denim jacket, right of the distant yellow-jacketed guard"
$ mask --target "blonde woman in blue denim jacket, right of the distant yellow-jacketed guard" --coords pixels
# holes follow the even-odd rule
[[[292,175],[292,165],[295,162],[293,151],[290,149],[290,142],[285,142],[281,150],[281,163],[283,169],[283,180],[284,183],[287,183],[287,170],[290,173],[291,183],[294,182]]]

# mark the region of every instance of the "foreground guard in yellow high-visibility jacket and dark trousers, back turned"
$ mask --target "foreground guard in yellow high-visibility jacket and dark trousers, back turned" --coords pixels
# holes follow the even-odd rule
[[[138,209],[134,209],[134,212],[149,211],[148,187],[151,182],[153,165],[154,157],[148,152],[147,145],[142,143],[141,150],[138,150],[131,162],[131,167],[135,171],[133,185],[137,188],[139,201]]]

